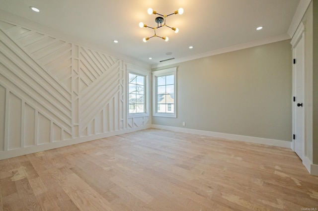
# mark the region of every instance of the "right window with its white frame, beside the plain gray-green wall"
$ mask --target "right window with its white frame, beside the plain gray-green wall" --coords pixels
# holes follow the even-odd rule
[[[176,118],[176,67],[153,72],[154,116]]]

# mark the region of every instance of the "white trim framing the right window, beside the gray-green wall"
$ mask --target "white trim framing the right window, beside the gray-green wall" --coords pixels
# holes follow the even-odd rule
[[[158,104],[157,104],[157,77],[165,75],[174,75],[174,113],[158,113]],[[172,67],[168,69],[158,70],[153,72],[153,116],[160,117],[177,117],[177,68]]]

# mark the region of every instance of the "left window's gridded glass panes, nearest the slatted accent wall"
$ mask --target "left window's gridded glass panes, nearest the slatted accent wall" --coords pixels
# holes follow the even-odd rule
[[[145,83],[146,77],[129,73],[129,113],[145,113]]]

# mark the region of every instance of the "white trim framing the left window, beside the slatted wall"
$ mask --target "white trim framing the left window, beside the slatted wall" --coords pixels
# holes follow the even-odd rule
[[[135,66],[135,65],[128,65],[127,64],[127,82],[126,82],[126,102],[127,102],[127,115],[129,118],[135,118],[135,117],[144,117],[144,116],[149,116],[149,110],[150,110],[150,70],[145,69],[143,67],[139,67],[139,66]],[[132,74],[136,74],[136,75],[141,75],[141,76],[145,76],[145,82],[146,82],[146,86],[145,86],[145,102],[146,102],[146,106],[145,106],[145,112],[144,113],[129,113],[129,73]]]

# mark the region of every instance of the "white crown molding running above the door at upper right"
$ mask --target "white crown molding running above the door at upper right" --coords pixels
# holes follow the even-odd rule
[[[298,4],[298,7],[296,9],[296,12],[294,14],[293,20],[289,26],[289,29],[287,31],[287,34],[290,37],[293,37],[297,27],[299,26],[300,22],[302,21],[304,14],[307,11],[307,8],[309,6],[309,4],[312,2],[312,0],[301,0]]]

